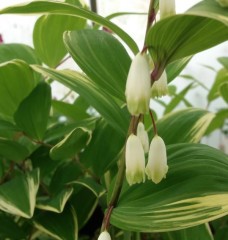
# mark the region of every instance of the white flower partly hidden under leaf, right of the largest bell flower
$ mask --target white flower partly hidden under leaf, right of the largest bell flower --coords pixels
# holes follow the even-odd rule
[[[155,81],[151,87],[151,97],[162,97],[168,93],[167,75],[166,72],[163,71],[161,77]]]

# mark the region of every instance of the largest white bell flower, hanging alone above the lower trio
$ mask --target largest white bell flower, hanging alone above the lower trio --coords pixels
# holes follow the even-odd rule
[[[126,90],[127,107],[131,115],[138,116],[149,110],[150,68],[145,53],[138,53],[128,72]]]

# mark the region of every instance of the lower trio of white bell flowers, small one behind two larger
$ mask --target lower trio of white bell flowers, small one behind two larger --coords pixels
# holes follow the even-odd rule
[[[145,153],[148,152],[148,148],[148,162],[145,167]],[[145,174],[156,184],[166,177],[168,165],[165,143],[161,137],[155,135],[149,147],[143,123],[138,125],[137,135],[131,134],[128,137],[125,159],[129,185],[144,182]]]

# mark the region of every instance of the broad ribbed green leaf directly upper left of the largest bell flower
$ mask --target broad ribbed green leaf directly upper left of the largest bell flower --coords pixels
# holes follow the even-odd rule
[[[64,34],[66,48],[86,75],[107,93],[125,101],[130,57],[111,34],[81,30]]]

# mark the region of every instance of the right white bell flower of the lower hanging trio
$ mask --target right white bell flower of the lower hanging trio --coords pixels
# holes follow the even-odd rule
[[[166,147],[163,139],[155,135],[150,144],[146,175],[154,183],[159,183],[168,172]]]

